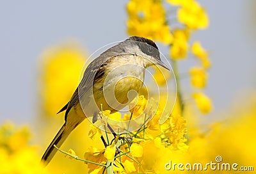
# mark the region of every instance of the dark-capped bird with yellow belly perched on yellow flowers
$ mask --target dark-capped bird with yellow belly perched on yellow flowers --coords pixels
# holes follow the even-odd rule
[[[45,166],[57,152],[54,145],[60,147],[85,118],[94,123],[101,107],[115,113],[127,106],[143,86],[145,68],[152,65],[170,70],[161,60],[156,43],[141,36],[131,36],[95,58],[69,102],[58,112],[65,111],[65,123],[42,156]]]

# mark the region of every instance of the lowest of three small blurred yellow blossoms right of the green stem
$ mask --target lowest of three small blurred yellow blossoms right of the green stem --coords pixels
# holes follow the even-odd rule
[[[196,106],[200,109],[200,111],[204,114],[210,113],[212,111],[212,102],[209,97],[207,97],[204,93],[193,93],[193,99],[195,99]]]

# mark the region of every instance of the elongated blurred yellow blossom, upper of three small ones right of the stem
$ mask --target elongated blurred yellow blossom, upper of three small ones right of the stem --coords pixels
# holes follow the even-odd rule
[[[211,67],[211,61],[208,58],[208,52],[204,50],[200,42],[194,42],[191,50],[192,53],[202,61],[202,66],[205,69]]]

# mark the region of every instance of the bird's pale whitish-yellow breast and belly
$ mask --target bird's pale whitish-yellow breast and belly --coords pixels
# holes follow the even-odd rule
[[[104,110],[115,112],[137,96],[143,86],[145,68],[134,55],[118,56],[111,61],[102,79],[93,85],[93,95],[99,108],[102,104]]]

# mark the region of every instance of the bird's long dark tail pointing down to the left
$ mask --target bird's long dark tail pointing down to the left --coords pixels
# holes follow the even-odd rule
[[[56,134],[51,144],[48,146],[47,150],[44,152],[44,155],[41,161],[44,162],[45,166],[51,161],[52,157],[57,152],[57,149],[54,148],[54,145],[60,147],[63,144],[63,142],[67,139],[70,132],[72,131],[73,129],[66,129],[66,123],[63,124],[58,134]]]

